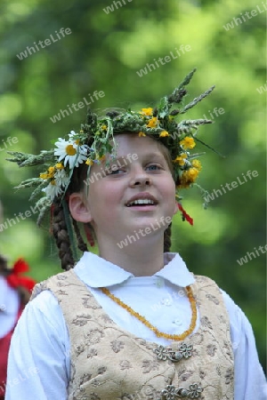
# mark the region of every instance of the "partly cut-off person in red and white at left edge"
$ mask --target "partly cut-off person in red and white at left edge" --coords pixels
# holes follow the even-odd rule
[[[28,264],[23,259],[8,268],[6,258],[0,254],[0,400],[4,400],[12,333],[36,284],[32,278],[22,276],[27,271]]]

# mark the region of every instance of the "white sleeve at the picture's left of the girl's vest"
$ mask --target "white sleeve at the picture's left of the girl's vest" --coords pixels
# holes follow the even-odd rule
[[[5,400],[65,400],[69,333],[58,301],[44,291],[24,309],[12,336]]]

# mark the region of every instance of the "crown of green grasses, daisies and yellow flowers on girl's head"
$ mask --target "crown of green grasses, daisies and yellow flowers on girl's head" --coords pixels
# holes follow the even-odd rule
[[[93,164],[100,164],[105,159],[106,164],[109,164],[109,160],[116,157],[117,148],[112,139],[119,132],[136,132],[141,137],[147,135],[161,141],[168,148],[172,157],[177,191],[180,188],[190,188],[201,170],[198,156],[205,154],[191,153],[190,150],[195,148],[196,141],[210,148],[202,140],[198,140],[198,126],[212,124],[213,121],[183,119],[179,122],[177,117],[181,119],[182,114],[203,100],[214,90],[214,86],[182,108],[173,109],[173,106],[183,102],[183,98],[187,94],[185,86],[190,83],[195,71],[196,68],[185,76],[174,92],[162,98],[156,108],[142,108],[137,112],[130,108],[126,110],[115,108],[109,110],[105,116],[97,116],[91,109],[88,109],[86,122],[81,124],[80,132],[71,131],[68,140],[59,138],[55,141],[54,149],[42,150],[37,156],[8,151],[7,153],[13,156],[8,161],[15,162],[20,167],[44,165],[44,172],[40,173],[38,178],[24,180],[17,187],[35,188],[29,200],[43,194],[36,202],[36,208],[40,211],[37,224],[40,225],[44,214],[50,209],[56,198],[64,198],[75,168],[85,163],[88,165],[87,174],[89,174]],[[200,189],[203,191],[202,188]],[[178,193],[177,196],[181,198]],[[183,220],[189,220],[191,223],[190,217],[184,212],[181,204],[180,210]]]

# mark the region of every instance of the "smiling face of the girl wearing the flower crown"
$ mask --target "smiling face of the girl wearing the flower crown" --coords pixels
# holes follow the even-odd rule
[[[145,236],[140,229],[157,221],[157,232],[163,235],[177,210],[174,179],[159,144],[134,133],[115,140],[117,158],[110,161],[110,171],[105,162],[93,164],[89,190],[70,195],[73,217],[91,222],[98,242],[117,242],[134,231]]]

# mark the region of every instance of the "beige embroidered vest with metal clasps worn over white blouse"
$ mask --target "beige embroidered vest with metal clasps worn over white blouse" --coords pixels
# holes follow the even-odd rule
[[[70,270],[36,285],[49,289],[69,329],[69,400],[233,399],[230,325],[218,286],[196,276],[198,332],[164,347],[115,324]],[[63,399],[62,399],[63,400]]]

